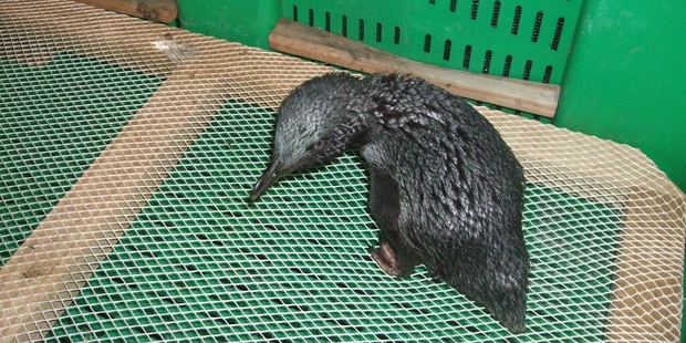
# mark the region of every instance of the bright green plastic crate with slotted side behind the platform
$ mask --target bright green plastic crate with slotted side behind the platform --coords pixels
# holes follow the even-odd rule
[[[559,84],[553,124],[637,147],[686,189],[684,1],[178,0],[178,7],[185,29],[263,49],[277,21],[288,18],[420,62]]]

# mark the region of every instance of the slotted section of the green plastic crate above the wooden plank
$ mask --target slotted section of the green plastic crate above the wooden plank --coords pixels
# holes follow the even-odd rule
[[[561,84],[582,4],[547,0],[417,0],[402,6],[392,0],[284,0],[282,12],[284,18],[410,60]]]

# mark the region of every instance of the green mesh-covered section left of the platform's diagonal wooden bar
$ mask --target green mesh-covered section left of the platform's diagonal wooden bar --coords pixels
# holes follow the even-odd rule
[[[0,266],[159,84],[66,53],[44,66],[0,59]]]

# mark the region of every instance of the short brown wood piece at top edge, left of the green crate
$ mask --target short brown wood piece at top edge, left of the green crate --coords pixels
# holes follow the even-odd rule
[[[108,11],[115,11],[155,22],[170,23],[178,10],[176,0],[73,0]]]

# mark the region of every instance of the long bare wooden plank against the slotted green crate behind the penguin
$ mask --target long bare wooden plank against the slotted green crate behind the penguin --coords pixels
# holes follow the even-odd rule
[[[269,46],[364,73],[409,73],[464,97],[545,117],[554,116],[560,96],[558,85],[419,63],[288,19],[271,32]]]

